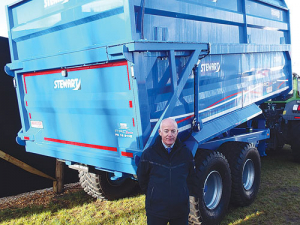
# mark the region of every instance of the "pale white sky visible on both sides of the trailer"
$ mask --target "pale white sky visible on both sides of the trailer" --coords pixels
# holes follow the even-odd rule
[[[5,5],[13,2],[16,2],[16,0],[0,0],[0,36],[2,37],[7,37]],[[293,72],[300,75],[300,29],[299,26],[297,27],[297,23],[300,21],[300,1],[285,0],[285,2],[290,9]]]

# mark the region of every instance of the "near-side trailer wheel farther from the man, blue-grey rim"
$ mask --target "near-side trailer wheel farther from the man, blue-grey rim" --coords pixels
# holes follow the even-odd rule
[[[253,144],[226,142],[220,149],[227,158],[232,179],[231,203],[250,205],[258,193],[261,175],[260,155]]]

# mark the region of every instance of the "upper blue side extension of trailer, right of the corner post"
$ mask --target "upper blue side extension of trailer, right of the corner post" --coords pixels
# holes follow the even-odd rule
[[[148,1],[144,36],[147,40],[210,43],[247,43],[249,36],[249,43],[263,44],[270,38],[271,43],[283,44],[281,37],[289,36],[288,9],[281,7],[285,6],[281,1],[267,2],[246,1],[244,6],[243,1]],[[141,10],[135,7],[136,12]],[[254,27],[257,29],[250,29]],[[252,35],[261,39],[252,40]]]

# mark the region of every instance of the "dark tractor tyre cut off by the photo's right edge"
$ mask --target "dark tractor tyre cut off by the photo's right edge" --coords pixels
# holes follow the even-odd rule
[[[293,159],[295,162],[300,162],[300,121],[289,121],[290,125],[290,144],[292,148]]]

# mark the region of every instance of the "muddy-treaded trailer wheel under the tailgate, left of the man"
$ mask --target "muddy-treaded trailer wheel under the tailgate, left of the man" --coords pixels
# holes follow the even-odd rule
[[[137,182],[130,178],[115,181],[111,179],[111,173],[104,171],[97,174],[79,171],[79,181],[86,193],[107,200],[127,197],[137,187]]]

